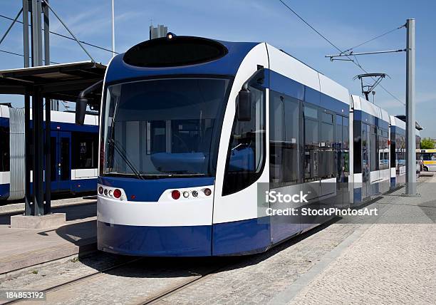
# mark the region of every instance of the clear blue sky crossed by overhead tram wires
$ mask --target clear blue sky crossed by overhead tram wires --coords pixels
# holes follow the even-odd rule
[[[416,119],[424,127],[422,136],[436,138],[436,1],[434,0],[284,0],[338,48],[348,49],[381,33],[416,19]],[[0,14],[14,18],[21,0],[0,0]],[[111,48],[110,0],[50,0],[50,4],[82,41]],[[51,14],[51,31],[69,36]],[[0,17],[0,35],[11,21]],[[165,24],[177,35],[204,36],[224,41],[266,41],[299,58],[353,94],[360,93],[363,73],[350,61],[331,62],[326,55],[338,53],[328,42],[291,13],[279,0],[115,0],[115,51],[122,53],[149,36],[150,24]],[[405,48],[406,29],[399,29],[355,52]],[[51,61],[67,63],[88,60],[74,41],[51,35]],[[111,54],[85,46],[95,61],[108,63]],[[21,24],[14,26],[0,45],[1,50],[23,53]],[[382,82],[405,103],[405,52],[358,56],[370,73],[387,73]],[[0,69],[21,68],[23,58],[0,52]],[[405,106],[383,88],[375,88],[375,104],[390,114],[404,114]],[[23,98],[0,95],[0,103],[23,106]],[[74,108],[72,103],[68,103]],[[67,104],[67,105],[68,105]]]

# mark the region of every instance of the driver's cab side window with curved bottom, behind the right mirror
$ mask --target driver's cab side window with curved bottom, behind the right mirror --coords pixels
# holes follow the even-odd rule
[[[265,93],[250,87],[251,120],[234,118],[227,154],[222,195],[230,195],[253,184],[265,160]]]

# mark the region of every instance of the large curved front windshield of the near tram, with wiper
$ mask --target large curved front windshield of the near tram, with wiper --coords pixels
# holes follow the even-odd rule
[[[212,176],[230,80],[171,78],[108,86],[101,175]]]

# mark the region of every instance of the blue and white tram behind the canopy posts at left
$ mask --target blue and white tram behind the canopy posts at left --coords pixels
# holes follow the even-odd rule
[[[52,192],[97,189],[98,115],[85,115],[82,126],[74,120],[74,113],[51,111]],[[24,109],[0,105],[0,200],[24,198],[24,152]]]

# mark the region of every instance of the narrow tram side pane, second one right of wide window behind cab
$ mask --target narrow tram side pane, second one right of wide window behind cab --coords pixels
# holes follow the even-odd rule
[[[336,158],[333,150],[334,142],[334,125],[333,114],[323,112],[321,115],[321,137],[319,149],[319,172],[321,179],[327,179],[336,176]]]

